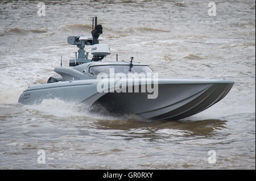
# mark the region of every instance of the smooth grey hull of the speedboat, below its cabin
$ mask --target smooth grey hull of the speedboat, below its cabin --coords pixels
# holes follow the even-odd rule
[[[33,86],[20,95],[19,102],[35,104],[43,99],[59,98],[93,106],[101,104],[110,113],[135,114],[152,120],[176,120],[195,115],[217,103],[234,84],[223,79],[159,78],[158,97],[148,99],[147,92],[99,93],[96,89],[98,82],[94,79]]]

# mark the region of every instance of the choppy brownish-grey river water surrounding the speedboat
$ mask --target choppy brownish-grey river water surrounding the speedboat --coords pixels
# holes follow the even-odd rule
[[[40,2],[0,2],[0,169],[255,169],[255,1],[211,1],[215,16],[207,1],[46,1],[39,16]],[[61,55],[68,66],[77,48],[67,36],[90,35],[93,16],[112,52],[105,60],[118,53],[159,77],[236,84],[179,121],[113,117],[57,99],[19,104],[24,89],[56,75]]]

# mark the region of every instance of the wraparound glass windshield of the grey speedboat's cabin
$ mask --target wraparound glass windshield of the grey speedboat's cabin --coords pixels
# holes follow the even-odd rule
[[[89,73],[92,75],[98,75],[99,73],[109,74],[110,68],[114,69],[114,73],[151,73],[153,71],[146,65],[97,65],[90,66]]]

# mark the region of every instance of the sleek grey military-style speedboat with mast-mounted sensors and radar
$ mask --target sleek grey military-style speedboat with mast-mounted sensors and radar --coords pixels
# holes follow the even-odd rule
[[[102,61],[110,54],[103,40],[101,24],[93,18],[92,36],[69,36],[76,45],[75,59],[69,66],[56,67],[59,76],[47,83],[28,87],[20,95],[21,104],[40,104],[44,99],[61,99],[105,108],[115,115],[132,114],[149,120],[179,120],[213,106],[228,94],[233,81],[204,78],[160,78],[141,62]],[[85,52],[92,46],[92,58]]]

